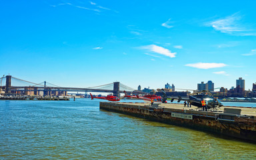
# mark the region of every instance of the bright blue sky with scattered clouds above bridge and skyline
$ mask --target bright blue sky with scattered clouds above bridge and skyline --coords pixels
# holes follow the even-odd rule
[[[61,87],[256,82],[256,1],[0,3],[2,75]]]

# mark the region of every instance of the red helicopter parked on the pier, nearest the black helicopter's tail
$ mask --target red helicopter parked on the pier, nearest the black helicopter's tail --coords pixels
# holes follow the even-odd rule
[[[125,97],[135,98],[135,99],[143,99],[145,103],[151,103],[151,99],[153,99],[154,103],[167,103],[166,99],[163,99],[161,96],[158,95],[144,95],[143,97],[139,97],[139,95],[127,95],[126,91]]]

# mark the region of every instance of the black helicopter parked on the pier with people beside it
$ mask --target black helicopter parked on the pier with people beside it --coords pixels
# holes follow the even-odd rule
[[[193,90],[194,91],[194,90]],[[216,107],[222,107],[223,104],[219,99],[211,96],[210,91],[203,90],[201,92],[193,93],[189,97],[173,97],[173,96],[167,96],[165,93],[165,90],[162,89],[163,92],[163,101],[166,101],[167,99],[171,99],[171,102],[173,102],[175,99],[177,99],[178,103],[180,101],[189,101],[191,105],[195,105],[199,108],[203,108],[204,106],[207,109],[215,109]]]

